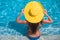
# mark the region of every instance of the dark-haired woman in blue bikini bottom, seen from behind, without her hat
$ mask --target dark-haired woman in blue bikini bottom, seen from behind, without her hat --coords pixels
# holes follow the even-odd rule
[[[39,31],[38,28],[39,28],[39,25],[41,23],[52,23],[53,22],[52,19],[51,19],[51,17],[47,14],[47,12],[45,10],[44,10],[44,14],[48,17],[48,20],[42,19],[42,21],[39,22],[39,23],[30,23],[27,20],[19,20],[19,18],[22,15],[22,13],[24,13],[24,10],[21,11],[21,13],[17,17],[16,21],[18,23],[27,24],[28,25],[29,30],[28,30],[28,33],[27,33],[27,37],[30,40],[36,40],[36,39],[38,39],[40,37],[40,31]]]

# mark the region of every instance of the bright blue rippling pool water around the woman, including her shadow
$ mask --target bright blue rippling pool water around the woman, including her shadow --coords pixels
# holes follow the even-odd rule
[[[16,18],[21,9],[31,0],[0,0],[0,35],[26,35],[27,25],[18,24]],[[60,0],[35,0],[40,2],[49,16],[53,19],[51,24],[41,25],[42,35],[60,35]],[[21,20],[25,20],[24,15]],[[47,19],[44,16],[44,19]]]

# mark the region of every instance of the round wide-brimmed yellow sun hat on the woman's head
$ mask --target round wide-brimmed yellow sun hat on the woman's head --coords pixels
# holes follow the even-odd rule
[[[44,8],[41,3],[36,1],[31,1],[27,3],[24,9],[24,16],[28,22],[38,23],[43,19]]]

